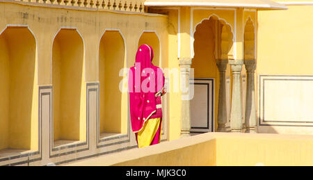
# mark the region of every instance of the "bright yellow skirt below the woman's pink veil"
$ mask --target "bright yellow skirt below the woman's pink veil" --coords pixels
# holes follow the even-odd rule
[[[154,139],[154,136],[156,136],[159,126],[161,126],[161,118],[150,119],[145,122],[143,130],[137,134],[139,148],[151,145],[151,142]],[[161,130],[159,136],[159,140],[161,140]]]

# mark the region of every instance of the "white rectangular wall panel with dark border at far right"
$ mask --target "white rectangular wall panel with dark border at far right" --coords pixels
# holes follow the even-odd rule
[[[259,76],[259,124],[313,126],[313,76]]]

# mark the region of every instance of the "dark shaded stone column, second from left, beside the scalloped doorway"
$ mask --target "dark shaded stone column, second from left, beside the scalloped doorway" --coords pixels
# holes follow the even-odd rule
[[[220,72],[220,90],[218,94],[218,132],[230,131],[230,126],[227,124],[227,101],[226,101],[226,76],[227,59],[218,60],[216,65]]]

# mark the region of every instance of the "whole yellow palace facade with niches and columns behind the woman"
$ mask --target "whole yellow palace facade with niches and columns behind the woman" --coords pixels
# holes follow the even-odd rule
[[[0,165],[135,148],[127,68],[141,44],[166,76],[162,141],[312,133],[312,4],[0,1]]]

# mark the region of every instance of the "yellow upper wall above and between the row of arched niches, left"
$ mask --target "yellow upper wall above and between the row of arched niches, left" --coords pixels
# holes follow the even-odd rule
[[[26,4],[26,2],[24,2]],[[0,19],[0,29],[6,28],[7,24],[28,25],[38,41],[39,85],[52,84],[51,73],[51,44],[54,42],[56,33],[61,27],[77,28],[86,47],[86,81],[97,82],[99,68],[97,56],[99,40],[106,29],[118,29],[125,38],[127,46],[127,67],[135,62],[138,40],[143,31],[155,31],[164,45],[162,51],[163,64],[168,62],[167,40],[167,17],[165,15],[147,13],[127,13],[107,11],[99,9],[79,10],[79,8],[51,8],[50,4],[42,6],[25,6],[15,3],[0,3],[3,9],[3,18]],[[29,15],[26,15],[29,13]],[[97,23],[96,23],[97,22]],[[147,22],[147,23],[146,23]],[[131,25],[131,26],[130,26]]]

